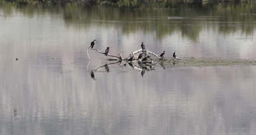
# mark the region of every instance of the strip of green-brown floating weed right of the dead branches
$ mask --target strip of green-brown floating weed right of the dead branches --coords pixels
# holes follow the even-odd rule
[[[254,66],[256,65],[255,59],[220,59],[220,58],[194,58],[194,57],[183,57],[178,59],[166,59],[164,61],[166,66],[168,64],[172,66]]]

